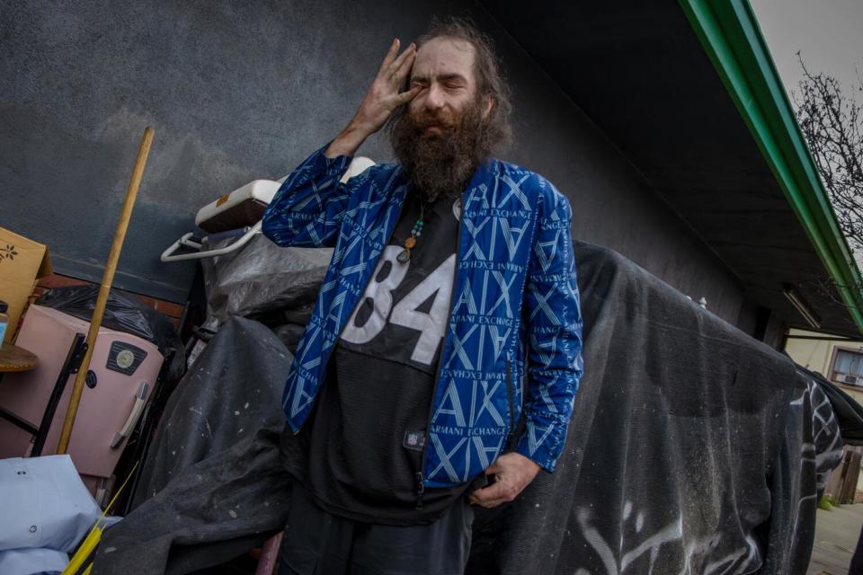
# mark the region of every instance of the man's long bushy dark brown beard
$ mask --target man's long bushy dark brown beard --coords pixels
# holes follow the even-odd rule
[[[443,126],[442,133],[427,133],[430,124]],[[489,157],[484,128],[478,102],[458,119],[405,111],[390,129],[390,143],[416,192],[427,201],[457,198]]]

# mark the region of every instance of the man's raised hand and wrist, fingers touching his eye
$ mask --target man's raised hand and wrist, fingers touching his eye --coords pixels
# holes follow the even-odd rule
[[[415,86],[406,92],[399,93],[405,83],[405,78],[411,72],[416,57],[416,46],[411,44],[401,54],[398,53],[400,43],[393,40],[387,51],[387,56],[378,69],[378,75],[369,87],[369,91],[360,102],[360,108],[354,114],[347,128],[342,130],[324,155],[334,158],[339,155],[353,155],[365,139],[377,132],[387,122],[387,118],[396,109],[414,99],[421,88]]]

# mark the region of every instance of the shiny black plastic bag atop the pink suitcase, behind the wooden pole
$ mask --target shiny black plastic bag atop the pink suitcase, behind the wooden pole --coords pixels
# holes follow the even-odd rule
[[[40,296],[36,303],[89,322],[93,317],[98,296],[99,286],[89,284],[51,288]],[[131,333],[152,341],[162,356],[169,358],[171,362],[167,372],[169,380],[176,381],[182,377],[185,370],[185,355],[182,341],[173,328],[173,323],[165,315],[148,307],[138,297],[112,289],[108,294],[108,304],[105,305],[102,325],[117,332]]]

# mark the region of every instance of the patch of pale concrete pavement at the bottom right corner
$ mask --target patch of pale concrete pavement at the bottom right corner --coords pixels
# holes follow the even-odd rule
[[[818,509],[812,559],[806,575],[848,575],[860,526],[863,526],[863,503],[843,505],[832,511]]]

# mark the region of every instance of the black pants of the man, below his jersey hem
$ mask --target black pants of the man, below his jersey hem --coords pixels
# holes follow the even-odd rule
[[[361,523],[320,509],[296,483],[279,575],[461,575],[473,521],[464,497],[429,525]]]

